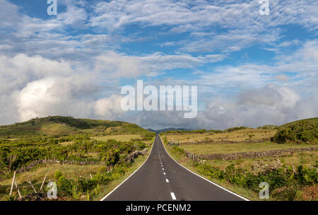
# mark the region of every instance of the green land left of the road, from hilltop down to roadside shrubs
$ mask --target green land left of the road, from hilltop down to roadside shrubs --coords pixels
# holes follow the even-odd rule
[[[155,136],[135,124],[72,117],[4,126],[0,134],[1,200],[19,199],[16,189],[8,195],[14,171],[23,200],[48,200],[49,188],[38,192],[45,175],[57,182],[57,200],[98,200],[141,165]]]

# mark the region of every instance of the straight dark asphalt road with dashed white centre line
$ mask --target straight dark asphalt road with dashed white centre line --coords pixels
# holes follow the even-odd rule
[[[183,168],[165,151],[159,136],[145,163],[108,194],[105,201],[242,201],[239,197]]]

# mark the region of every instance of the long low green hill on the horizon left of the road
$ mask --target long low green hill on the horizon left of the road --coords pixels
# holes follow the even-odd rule
[[[148,132],[137,124],[110,120],[75,119],[73,117],[42,117],[26,122],[0,126],[0,136],[28,136],[36,134],[140,134]]]

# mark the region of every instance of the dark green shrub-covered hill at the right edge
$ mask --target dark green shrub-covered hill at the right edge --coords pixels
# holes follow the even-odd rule
[[[317,144],[318,138],[318,118],[298,120],[283,124],[278,127],[278,131],[273,136],[273,141],[278,144]]]

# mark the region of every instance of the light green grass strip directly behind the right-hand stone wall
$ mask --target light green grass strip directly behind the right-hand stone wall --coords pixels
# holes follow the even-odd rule
[[[271,141],[261,143],[237,143],[237,144],[184,144],[180,148],[196,154],[206,153],[237,153],[245,151],[269,151],[273,149],[307,148],[317,145],[306,144],[276,144]]]

